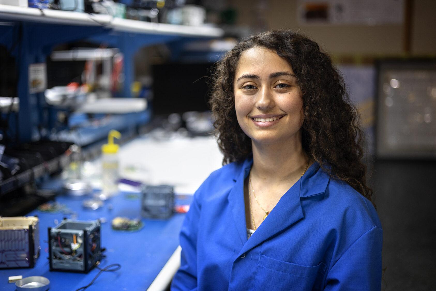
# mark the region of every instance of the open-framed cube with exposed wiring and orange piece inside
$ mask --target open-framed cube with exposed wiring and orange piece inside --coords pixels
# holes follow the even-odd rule
[[[101,253],[100,222],[64,219],[48,228],[50,271],[88,273]]]

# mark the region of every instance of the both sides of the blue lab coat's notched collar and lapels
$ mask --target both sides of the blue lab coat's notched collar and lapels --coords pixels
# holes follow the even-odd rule
[[[250,173],[253,158],[250,156],[235,171],[235,185],[228,194],[228,202],[232,208],[232,216],[242,243],[240,255],[290,227],[304,217],[301,199],[325,193],[330,176],[318,163],[313,163],[306,173],[279,200],[268,217],[247,240],[247,224],[245,221],[244,181]]]

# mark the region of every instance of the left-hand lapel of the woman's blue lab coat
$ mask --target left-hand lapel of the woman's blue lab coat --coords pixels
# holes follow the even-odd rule
[[[250,172],[252,159],[245,160],[239,175],[235,177],[236,183],[228,194],[233,220],[238,230],[243,246],[247,242],[247,223],[245,222],[244,181]]]

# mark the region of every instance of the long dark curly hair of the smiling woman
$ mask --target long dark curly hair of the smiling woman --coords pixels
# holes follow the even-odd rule
[[[215,66],[210,105],[218,145],[224,153],[223,165],[252,153],[251,139],[236,119],[233,82],[242,52],[255,46],[275,51],[296,74],[303,97],[302,146],[309,158],[371,201],[366,166],[361,162],[363,132],[344,79],[315,41],[291,30],[272,30],[244,39]]]

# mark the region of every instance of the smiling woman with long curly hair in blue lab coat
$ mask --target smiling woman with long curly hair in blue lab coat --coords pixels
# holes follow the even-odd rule
[[[290,30],[218,63],[223,166],[194,194],[172,290],[380,290],[382,229],[344,80]]]

